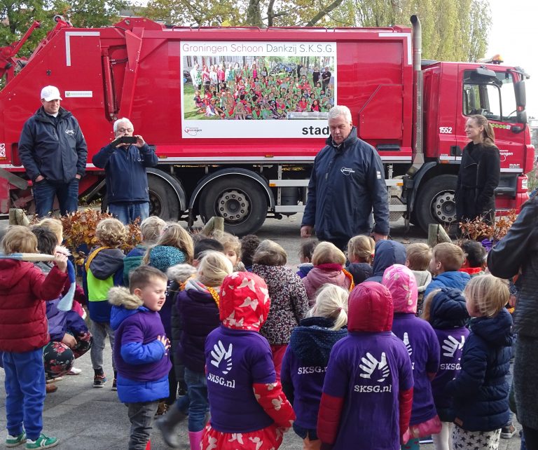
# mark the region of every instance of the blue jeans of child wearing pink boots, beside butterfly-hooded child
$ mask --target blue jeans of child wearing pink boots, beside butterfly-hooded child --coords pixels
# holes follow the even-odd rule
[[[177,400],[179,411],[188,414],[188,430],[200,431],[205,427],[205,415],[209,411],[205,374],[185,367],[187,395]]]

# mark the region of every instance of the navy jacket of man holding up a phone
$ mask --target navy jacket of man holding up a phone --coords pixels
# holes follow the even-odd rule
[[[155,151],[147,144],[118,148],[104,146],[92,158],[95,167],[104,168],[109,203],[149,202],[146,168],[158,163]]]

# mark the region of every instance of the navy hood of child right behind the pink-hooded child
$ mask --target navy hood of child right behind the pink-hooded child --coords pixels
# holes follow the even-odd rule
[[[463,327],[469,319],[467,305],[460,289],[442,287],[432,299],[429,323],[436,329]]]

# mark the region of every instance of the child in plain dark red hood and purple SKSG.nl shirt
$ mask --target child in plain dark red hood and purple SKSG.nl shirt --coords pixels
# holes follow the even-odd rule
[[[347,306],[347,332],[334,344],[319,404],[322,448],[398,450],[407,442],[413,370],[392,332],[389,290],[378,282],[355,287]]]

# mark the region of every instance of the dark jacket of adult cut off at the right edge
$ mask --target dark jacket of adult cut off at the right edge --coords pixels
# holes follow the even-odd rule
[[[499,278],[511,278],[519,289],[514,332],[538,338],[538,196],[521,207],[506,236],[490,250],[488,269]]]

